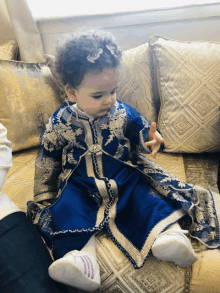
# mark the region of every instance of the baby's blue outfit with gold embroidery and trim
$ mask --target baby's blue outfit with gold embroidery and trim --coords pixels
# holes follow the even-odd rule
[[[51,116],[40,138],[36,203],[28,202],[28,217],[55,259],[80,250],[106,227],[140,268],[157,236],[186,213],[193,220],[193,237],[219,245],[213,195],[196,192],[142,154],[150,152],[144,145],[149,128],[145,117],[118,100],[94,119],[70,101]],[[53,201],[47,207],[39,203],[48,199]]]

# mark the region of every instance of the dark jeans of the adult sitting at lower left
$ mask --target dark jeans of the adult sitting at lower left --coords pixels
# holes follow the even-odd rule
[[[0,292],[67,293],[48,274],[52,259],[25,213],[0,220]]]

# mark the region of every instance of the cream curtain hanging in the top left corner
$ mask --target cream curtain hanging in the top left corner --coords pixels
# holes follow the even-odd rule
[[[0,0],[0,44],[15,39],[20,60],[44,62],[44,48],[26,0]]]

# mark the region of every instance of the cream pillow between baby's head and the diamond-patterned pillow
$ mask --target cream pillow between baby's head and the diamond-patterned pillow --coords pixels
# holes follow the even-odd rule
[[[119,100],[134,107],[150,122],[156,121],[148,43],[123,52],[117,92]]]

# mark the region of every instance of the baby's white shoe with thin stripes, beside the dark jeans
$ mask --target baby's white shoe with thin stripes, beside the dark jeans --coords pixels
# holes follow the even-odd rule
[[[93,292],[100,287],[99,265],[92,254],[73,250],[49,267],[50,277],[60,283]]]

